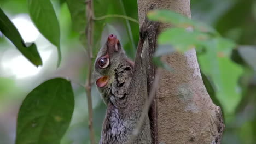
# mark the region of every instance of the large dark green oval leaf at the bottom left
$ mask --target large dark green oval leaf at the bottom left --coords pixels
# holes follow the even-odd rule
[[[69,127],[74,110],[71,83],[48,80],[34,88],[18,114],[16,144],[57,144]]]

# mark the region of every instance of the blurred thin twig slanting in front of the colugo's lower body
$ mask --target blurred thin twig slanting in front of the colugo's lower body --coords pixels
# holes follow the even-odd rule
[[[156,70],[155,79],[154,79],[154,82],[153,82],[153,85],[152,85],[152,89],[151,89],[149,97],[148,97],[148,101],[144,105],[144,109],[142,111],[142,115],[139,118],[139,121],[138,121],[135,129],[132,132],[132,135],[131,135],[130,140],[128,142],[129,144],[131,144],[133,142],[133,140],[135,139],[135,137],[139,134],[139,131],[141,130],[141,127],[143,125],[143,122],[144,122],[144,119],[146,117],[146,114],[148,113],[150,104],[152,103],[152,100],[154,99],[155,93],[156,93],[156,91],[158,89],[158,82],[160,80],[160,77],[161,77],[161,69],[158,68]]]

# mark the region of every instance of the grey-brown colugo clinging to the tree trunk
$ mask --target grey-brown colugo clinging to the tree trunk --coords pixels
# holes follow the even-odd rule
[[[150,5],[150,9],[155,5]],[[144,20],[135,62],[127,58],[117,36],[110,34],[98,52],[94,79],[107,105],[100,144],[152,143],[148,113],[142,115],[152,83],[153,53],[158,22]],[[144,117],[141,130],[130,141],[139,118]]]

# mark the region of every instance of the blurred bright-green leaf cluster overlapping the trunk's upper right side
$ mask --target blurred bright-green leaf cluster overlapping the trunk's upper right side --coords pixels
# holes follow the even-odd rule
[[[202,71],[213,78],[217,87],[217,98],[223,105],[224,111],[226,113],[234,112],[241,99],[241,93],[237,91],[237,81],[241,74],[241,68],[232,63],[229,56],[236,44],[220,37],[211,27],[168,10],[151,11],[148,17],[176,26],[162,32],[158,37],[158,43],[169,45],[170,49],[161,50],[159,47],[156,52],[172,52],[171,46],[180,52],[194,47],[197,50],[201,48],[206,50],[205,54],[199,57]],[[193,29],[188,29],[188,27]]]

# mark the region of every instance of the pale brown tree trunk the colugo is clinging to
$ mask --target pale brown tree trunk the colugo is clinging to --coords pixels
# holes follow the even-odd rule
[[[191,17],[189,0],[138,0],[139,23],[150,3]],[[160,23],[158,34],[170,25]],[[161,58],[174,72],[162,71],[157,105],[157,143],[220,143],[224,123],[202,82],[195,49]]]

